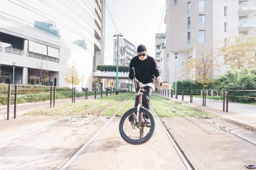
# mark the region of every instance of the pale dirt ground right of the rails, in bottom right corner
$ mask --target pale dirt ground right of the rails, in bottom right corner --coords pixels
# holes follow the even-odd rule
[[[197,118],[164,119],[198,170],[246,170],[256,164],[256,147]],[[256,142],[256,132],[215,119],[244,138]]]

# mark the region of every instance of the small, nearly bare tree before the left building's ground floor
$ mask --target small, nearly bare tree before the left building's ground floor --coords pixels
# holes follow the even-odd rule
[[[41,62],[38,62],[36,65],[37,68],[30,69],[33,76],[39,78],[39,84],[42,85],[43,82],[49,82],[50,79],[50,72],[47,70],[47,67],[44,65],[43,60],[41,59]]]

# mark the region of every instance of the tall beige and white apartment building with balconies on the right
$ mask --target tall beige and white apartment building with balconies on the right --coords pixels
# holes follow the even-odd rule
[[[165,16],[167,82],[175,81],[175,53],[177,77],[180,77],[182,62],[196,56],[192,44],[212,42],[244,33],[256,32],[256,0],[168,0]],[[223,66],[213,69],[212,78],[225,73],[224,57],[218,59]]]

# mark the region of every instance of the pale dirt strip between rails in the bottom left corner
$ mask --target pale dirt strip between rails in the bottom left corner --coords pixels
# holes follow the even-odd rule
[[[74,116],[1,144],[0,169],[56,169],[106,120],[105,116]]]

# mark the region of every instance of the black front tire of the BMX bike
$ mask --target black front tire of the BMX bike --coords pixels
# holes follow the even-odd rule
[[[137,108],[131,108],[128,111],[125,112],[125,114],[122,116],[120,123],[119,123],[119,133],[122,137],[122,139],[125,140],[125,142],[129,143],[129,144],[133,144],[133,145],[140,145],[140,144],[144,144],[146,142],[148,142],[149,139],[151,139],[152,135],[154,134],[154,127],[155,127],[155,122],[154,122],[154,116],[152,115],[152,113],[146,109],[146,108],[140,108],[140,111],[145,113],[146,115],[148,115],[148,118],[151,121],[151,127],[150,130],[148,132],[148,134],[143,137],[142,139],[130,139],[128,136],[126,136],[124,130],[123,130],[123,123],[125,121],[125,118],[130,115],[131,113],[136,113],[137,112]]]

